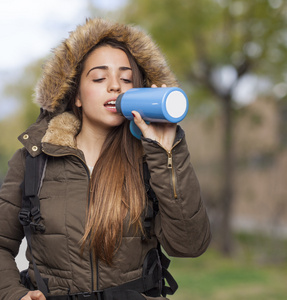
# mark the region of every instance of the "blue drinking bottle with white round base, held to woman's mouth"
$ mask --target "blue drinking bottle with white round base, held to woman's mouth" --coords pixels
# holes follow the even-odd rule
[[[141,131],[133,121],[133,110],[139,112],[147,123],[178,123],[187,114],[188,99],[185,92],[178,87],[133,88],[118,96],[116,109],[132,121],[131,132],[140,138]]]

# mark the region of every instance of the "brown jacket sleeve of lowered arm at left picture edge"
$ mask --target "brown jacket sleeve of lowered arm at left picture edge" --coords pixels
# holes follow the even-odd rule
[[[28,290],[20,284],[15,257],[24,237],[18,213],[22,202],[25,154],[18,150],[0,189],[0,300],[20,299]]]

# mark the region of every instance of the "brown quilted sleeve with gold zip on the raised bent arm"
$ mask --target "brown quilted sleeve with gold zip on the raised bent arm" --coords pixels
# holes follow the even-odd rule
[[[150,185],[159,202],[155,234],[168,255],[196,257],[209,245],[210,225],[184,132],[177,129],[170,153],[156,141],[142,139]]]

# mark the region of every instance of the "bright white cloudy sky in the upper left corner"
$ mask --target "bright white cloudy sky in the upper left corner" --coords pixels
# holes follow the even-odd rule
[[[2,0],[0,2],[0,70],[23,67],[47,54],[84,19],[79,0]]]

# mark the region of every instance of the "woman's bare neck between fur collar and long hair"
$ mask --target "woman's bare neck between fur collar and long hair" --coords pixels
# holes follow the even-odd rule
[[[88,166],[93,167],[97,162],[107,134],[108,131],[83,126],[77,135],[77,148],[83,151]]]

